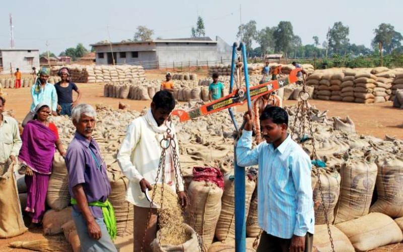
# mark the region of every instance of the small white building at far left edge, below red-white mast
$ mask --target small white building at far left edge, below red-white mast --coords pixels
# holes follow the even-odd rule
[[[0,74],[10,74],[17,68],[22,73],[31,73],[32,67],[39,69],[38,49],[2,49],[0,48]]]

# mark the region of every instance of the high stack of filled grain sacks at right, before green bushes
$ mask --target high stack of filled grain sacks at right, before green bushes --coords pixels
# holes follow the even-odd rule
[[[307,77],[307,85],[314,87],[314,99],[357,103],[378,103],[393,99],[392,82],[403,77],[402,69],[344,69],[316,70]],[[403,81],[402,81],[403,83]],[[399,88],[395,84],[396,89]],[[402,85],[403,87],[403,85]]]

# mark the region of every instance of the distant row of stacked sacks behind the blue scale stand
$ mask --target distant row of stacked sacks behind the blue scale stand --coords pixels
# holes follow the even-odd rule
[[[270,63],[268,66],[273,68],[281,65],[282,66],[282,73],[289,74],[295,67],[291,64],[283,65],[278,63]],[[265,64],[248,64],[248,74],[249,75],[260,75],[261,71],[263,70]],[[308,74],[311,74],[314,71],[314,68],[310,64],[303,64],[301,65],[302,69],[304,69]],[[242,68],[243,69],[243,68]],[[212,76],[213,73],[218,73],[219,75],[231,75],[231,65],[215,65],[209,67],[209,76]]]

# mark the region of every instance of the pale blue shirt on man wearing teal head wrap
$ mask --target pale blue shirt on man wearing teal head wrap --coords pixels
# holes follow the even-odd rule
[[[44,102],[52,111],[57,109],[57,93],[54,86],[50,83],[46,83],[44,88],[40,88],[39,93],[35,93],[36,84],[31,88],[32,104],[31,111],[34,110],[36,105]]]

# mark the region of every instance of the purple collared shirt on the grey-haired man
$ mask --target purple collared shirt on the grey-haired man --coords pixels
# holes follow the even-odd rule
[[[69,192],[73,198],[75,198],[73,187],[83,184],[88,203],[105,202],[108,199],[111,188],[106,173],[106,164],[94,139],[89,141],[76,132],[67,149],[65,163],[69,172]],[[77,205],[74,205],[73,208],[80,212]],[[95,218],[103,218],[101,208],[92,206],[89,208]]]

